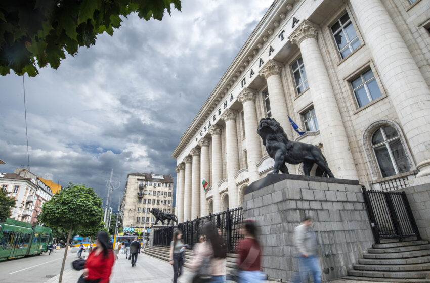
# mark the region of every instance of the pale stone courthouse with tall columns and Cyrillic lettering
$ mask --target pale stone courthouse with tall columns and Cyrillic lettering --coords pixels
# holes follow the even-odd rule
[[[179,221],[241,206],[270,172],[256,133],[266,116],[320,147],[336,178],[430,182],[429,46],[430,1],[275,0],[172,154]]]

